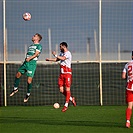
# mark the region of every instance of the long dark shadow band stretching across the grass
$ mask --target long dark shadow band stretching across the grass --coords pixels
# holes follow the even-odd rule
[[[90,126],[90,127],[118,127],[125,128],[122,123],[117,122],[102,122],[102,121],[69,121],[69,120],[53,120],[53,119],[24,119],[21,117],[4,117],[0,118],[1,124],[16,123],[16,124],[44,124],[44,125],[62,125],[62,126]]]

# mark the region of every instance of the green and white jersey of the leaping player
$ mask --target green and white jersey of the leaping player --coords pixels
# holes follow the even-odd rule
[[[36,53],[36,51],[39,51],[41,53],[42,52],[42,45],[40,45],[40,44],[32,44],[32,45],[30,45],[28,47],[26,58],[29,58],[29,57],[33,56]],[[35,57],[33,60],[37,61],[39,55],[37,57]]]

